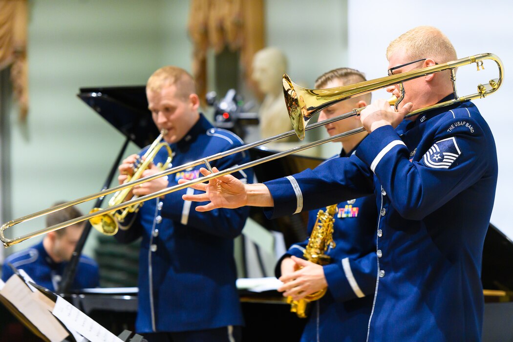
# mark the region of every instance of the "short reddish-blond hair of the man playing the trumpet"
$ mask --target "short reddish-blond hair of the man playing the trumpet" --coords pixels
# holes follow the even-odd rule
[[[156,70],[146,83],[146,91],[159,92],[165,86],[176,86],[179,95],[187,98],[196,93],[194,78],[184,69],[174,66],[162,67]]]

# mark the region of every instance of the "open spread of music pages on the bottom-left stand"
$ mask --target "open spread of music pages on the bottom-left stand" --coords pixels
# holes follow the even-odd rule
[[[32,333],[48,342],[123,342],[67,300],[19,270],[4,283],[0,302]]]

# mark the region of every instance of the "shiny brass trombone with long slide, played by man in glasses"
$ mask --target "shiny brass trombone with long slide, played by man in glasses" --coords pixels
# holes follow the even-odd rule
[[[483,62],[485,61],[485,59],[491,59],[491,61],[494,61],[496,63],[498,72],[499,72],[499,76],[497,78],[491,79],[487,84],[479,84],[477,93],[473,93],[473,94],[466,95],[466,96],[458,96],[457,91],[456,91],[456,70],[455,69],[465,66],[465,65],[475,63],[477,65],[477,70],[479,71],[480,69],[484,69]],[[261,146],[261,145],[264,145],[267,143],[275,142],[277,140],[291,136],[293,134],[296,134],[301,140],[303,140],[304,136],[305,136],[305,131],[307,131],[307,130],[314,129],[319,126],[324,126],[329,123],[336,122],[338,120],[342,120],[342,119],[345,119],[345,118],[348,118],[348,117],[351,117],[354,115],[360,115],[360,112],[363,110],[363,108],[353,109],[349,113],[345,113],[345,114],[339,115],[337,117],[326,119],[326,120],[323,120],[322,122],[318,122],[318,123],[306,126],[308,120],[315,113],[321,111],[322,109],[324,109],[326,107],[331,106],[334,103],[340,102],[342,100],[345,100],[345,99],[348,99],[351,97],[356,97],[359,95],[363,95],[363,94],[372,92],[374,90],[385,88],[385,87],[388,87],[391,85],[399,84],[400,91],[402,92],[402,95],[400,96],[399,99],[397,99],[395,101],[394,105],[397,108],[397,105],[399,104],[399,102],[402,100],[402,98],[404,96],[404,88],[402,86],[403,82],[409,81],[414,78],[422,77],[422,76],[425,76],[428,74],[449,70],[451,82],[453,85],[454,99],[447,100],[443,103],[438,103],[438,104],[428,106],[425,108],[417,109],[415,111],[410,112],[408,115],[405,116],[405,117],[410,117],[413,115],[420,114],[421,112],[429,111],[429,110],[432,110],[435,108],[441,108],[441,107],[449,106],[449,105],[456,104],[456,103],[463,103],[463,102],[466,102],[466,101],[469,101],[472,99],[483,98],[491,93],[496,92],[500,88],[500,86],[502,85],[502,82],[503,82],[503,69],[504,69],[504,67],[502,65],[501,59],[498,56],[491,54],[491,53],[482,53],[482,54],[477,54],[477,55],[473,55],[473,56],[469,56],[469,57],[465,57],[465,58],[460,58],[460,59],[457,59],[456,61],[451,61],[451,62],[447,62],[444,64],[435,65],[432,67],[413,70],[413,71],[409,71],[409,72],[405,72],[405,73],[401,73],[401,74],[397,74],[397,75],[376,78],[376,79],[372,79],[370,81],[365,81],[365,82],[361,82],[361,83],[357,83],[357,84],[352,84],[352,85],[347,85],[347,86],[342,86],[342,87],[337,87],[337,88],[330,88],[330,89],[302,88],[302,87],[294,84],[290,80],[289,76],[285,74],[283,76],[283,91],[284,91],[284,95],[285,95],[285,102],[286,102],[287,109],[289,112],[289,117],[292,122],[293,130],[290,130],[288,132],[278,134],[278,135],[275,135],[275,136],[272,136],[272,137],[269,137],[266,139],[259,140],[258,142],[255,142],[255,143],[247,144],[244,146],[233,148],[233,149],[225,151],[225,152],[217,153],[217,154],[208,156],[206,158],[194,160],[192,162],[189,162],[189,163],[186,163],[181,166],[177,166],[177,167],[174,167],[174,168],[171,168],[168,170],[164,170],[162,172],[156,173],[156,174],[148,176],[148,177],[139,178],[139,179],[133,180],[131,182],[128,182],[128,183],[125,183],[125,184],[122,184],[122,185],[119,185],[119,186],[116,186],[116,187],[113,187],[110,189],[106,189],[101,192],[94,193],[89,196],[81,197],[81,198],[72,200],[70,202],[66,202],[62,205],[58,205],[58,206],[55,206],[55,207],[52,207],[49,209],[38,211],[36,213],[11,220],[11,221],[3,224],[0,227],[0,240],[2,240],[2,243],[4,244],[5,247],[9,247],[9,246],[18,244],[20,242],[23,242],[24,240],[29,239],[31,237],[40,236],[40,235],[46,234],[51,231],[55,231],[58,229],[62,229],[62,228],[83,222],[88,219],[93,219],[97,216],[109,214],[109,213],[130,207],[130,206],[135,206],[135,205],[145,202],[147,200],[157,198],[157,197],[166,195],[168,193],[172,193],[175,191],[185,189],[194,184],[204,183],[210,179],[218,178],[218,177],[226,175],[226,174],[231,174],[231,173],[234,173],[234,172],[237,172],[240,170],[244,170],[244,169],[250,168],[255,165],[264,164],[264,163],[270,162],[271,160],[278,159],[278,158],[281,158],[281,157],[284,157],[284,156],[287,156],[287,155],[290,155],[293,153],[297,153],[297,152],[300,152],[300,151],[303,151],[303,150],[306,150],[306,149],[309,149],[309,148],[312,148],[315,146],[319,146],[319,145],[331,142],[333,140],[337,140],[344,136],[363,132],[365,130],[363,127],[357,128],[357,129],[343,132],[343,133],[340,133],[340,134],[337,134],[337,135],[334,135],[334,136],[331,136],[328,138],[320,139],[320,140],[317,140],[312,143],[297,146],[297,147],[291,148],[291,149],[283,151],[283,152],[278,152],[278,153],[275,153],[275,154],[267,156],[267,157],[253,160],[253,161],[248,162],[243,165],[234,166],[234,167],[231,167],[231,168],[228,168],[225,170],[221,170],[216,173],[212,173],[208,176],[200,177],[195,180],[190,180],[189,182],[186,182],[183,184],[178,184],[178,185],[154,192],[149,195],[141,196],[138,198],[132,198],[132,199],[128,200],[127,202],[109,206],[105,209],[101,209],[96,212],[92,212],[92,213],[83,215],[81,217],[77,217],[77,218],[68,220],[61,224],[57,224],[57,225],[53,225],[51,227],[37,230],[37,231],[29,233],[29,234],[25,234],[25,235],[18,236],[15,238],[6,238],[4,235],[4,231],[7,228],[15,226],[19,223],[23,223],[23,222],[29,221],[31,219],[44,216],[44,215],[50,214],[52,212],[67,208],[67,207],[71,207],[71,206],[74,206],[77,204],[88,202],[91,199],[106,196],[108,194],[115,193],[117,191],[121,191],[121,190],[124,190],[127,188],[132,188],[136,185],[139,185],[139,184],[142,184],[145,182],[149,182],[150,180],[153,180],[153,179],[156,179],[156,178],[159,178],[162,176],[170,175],[170,174],[185,170],[190,167],[205,164],[207,169],[211,169],[209,162],[211,162],[212,160],[220,159],[222,157],[225,157],[225,156],[228,156],[231,154],[246,151],[253,147],[258,147],[258,146]],[[393,102],[393,101],[389,100],[389,102]]]

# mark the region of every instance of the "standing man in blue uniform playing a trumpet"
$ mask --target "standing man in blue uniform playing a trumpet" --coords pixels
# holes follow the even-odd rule
[[[163,139],[172,150],[173,166],[243,145],[230,131],[214,128],[199,112],[200,100],[194,80],[185,70],[166,66],[156,70],[146,85],[148,108]],[[143,155],[148,148],[141,151]],[[160,171],[169,152],[156,154],[143,177]],[[119,182],[132,174],[138,156],[130,155],[119,166]],[[240,152],[214,160],[225,169],[249,161]],[[132,189],[135,196],[147,195],[179,179],[201,176],[200,166],[156,178]],[[252,183],[251,170],[236,172],[243,183]],[[130,243],[142,236],[139,258],[139,300],[136,332],[155,341],[240,341],[244,324],[239,294],[233,239],[240,235],[249,208],[195,210],[184,201],[184,189],[148,200],[139,212],[129,214],[115,238]],[[130,196],[129,196],[130,197]]]

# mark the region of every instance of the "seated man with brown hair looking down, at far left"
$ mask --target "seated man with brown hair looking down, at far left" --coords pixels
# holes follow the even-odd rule
[[[57,202],[53,206],[63,203]],[[48,214],[46,226],[57,225],[80,216],[82,213],[77,207],[68,207]],[[48,232],[37,245],[9,255],[2,266],[2,280],[7,281],[14,274],[12,265],[18,270],[25,271],[37,285],[53,292],[57,291],[84,227],[85,223],[81,222]],[[96,261],[81,255],[76,267],[70,289],[95,288],[100,285],[100,273]]]

